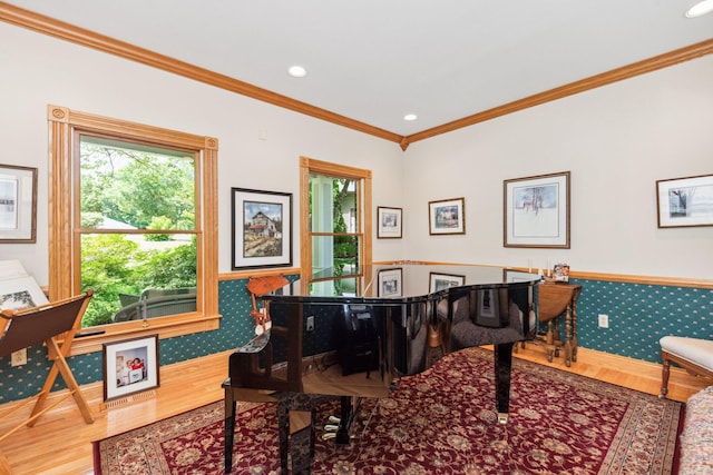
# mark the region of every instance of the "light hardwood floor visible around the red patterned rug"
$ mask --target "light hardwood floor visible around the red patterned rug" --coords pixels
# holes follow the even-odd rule
[[[11,474],[92,474],[91,442],[120,434],[136,427],[180,414],[188,409],[223,398],[221,383],[227,375],[229,352],[177,363],[162,368],[160,387],[155,396],[141,395],[136,400],[101,409],[101,383],[82,386],[89,403],[94,424],[85,424],[72,398],[68,398],[40,417],[35,427],[21,427],[0,443],[0,451],[11,467]],[[567,368],[564,358],[547,362],[544,347],[528,344],[516,357],[584,376],[631,387],[644,393],[658,394],[661,365],[613,356],[579,348],[578,360]],[[673,368],[668,396],[685,402],[691,395],[713,384],[710,379],[693,377]],[[0,414],[18,406],[0,406]],[[25,420],[31,405],[0,419],[0,432]],[[2,474],[0,463],[0,474]]]

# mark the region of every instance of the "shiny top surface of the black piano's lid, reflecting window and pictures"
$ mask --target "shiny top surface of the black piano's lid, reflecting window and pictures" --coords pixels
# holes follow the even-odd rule
[[[322,269],[310,279],[300,279],[272,294],[280,299],[368,303],[394,299],[400,303],[436,297],[449,288],[496,288],[531,286],[539,276],[530,273],[473,265],[424,265],[417,263],[363,266],[340,273]],[[339,283],[339,284],[338,284]],[[281,298],[282,297],[282,298]]]

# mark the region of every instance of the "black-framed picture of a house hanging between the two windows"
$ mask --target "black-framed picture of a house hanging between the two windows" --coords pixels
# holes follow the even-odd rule
[[[233,270],[292,266],[292,194],[232,191]]]

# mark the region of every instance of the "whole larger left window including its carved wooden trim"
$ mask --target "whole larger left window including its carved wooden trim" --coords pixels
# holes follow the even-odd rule
[[[217,328],[217,140],[49,107],[50,300],[95,297],[72,354]]]

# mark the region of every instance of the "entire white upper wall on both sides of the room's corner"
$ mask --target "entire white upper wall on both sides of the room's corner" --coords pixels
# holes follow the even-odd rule
[[[713,174],[713,57],[416,142],[392,142],[0,23],[0,164],[39,169],[36,245],[0,245],[48,284],[47,105],[217,137],[219,271],[231,270],[231,187],[294,194],[300,156],[373,171],[373,207],[402,207],[416,259],[713,278],[713,227],[657,229],[657,179]],[[526,78],[525,78],[526,79]],[[258,139],[258,130],[266,140]],[[572,249],[502,247],[502,180],[572,171]],[[429,236],[428,201],[466,198],[465,236]]]

